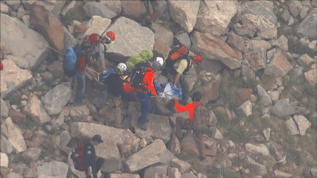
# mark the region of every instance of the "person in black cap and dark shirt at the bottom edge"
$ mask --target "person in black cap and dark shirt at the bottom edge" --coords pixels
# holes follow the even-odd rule
[[[104,163],[104,159],[98,158],[96,160],[95,146],[99,143],[103,143],[100,135],[95,135],[89,142],[85,144],[84,163],[87,168],[85,170],[87,176],[97,177],[97,173]]]

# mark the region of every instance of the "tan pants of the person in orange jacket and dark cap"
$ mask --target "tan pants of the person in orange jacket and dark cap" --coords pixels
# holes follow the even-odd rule
[[[206,151],[205,151],[205,141],[203,141],[203,136],[201,133],[201,130],[197,130],[195,128],[193,128],[192,123],[188,123],[187,125],[184,124],[184,122],[186,122],[187,119],[185,119],[184,117],[176,117],[176,137],[178,139],[182,139],[183,138],[183,133],[182,133],[182,129],[189,129],[191,128],[196,137],[198,138],[198,150],[199,150],[199,154],[201,157],[206,157]]]

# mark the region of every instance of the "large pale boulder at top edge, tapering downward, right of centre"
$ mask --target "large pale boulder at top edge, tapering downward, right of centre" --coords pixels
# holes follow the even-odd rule
[[[237,1],[201,1],[195,29],[219,37],[237,10]]]

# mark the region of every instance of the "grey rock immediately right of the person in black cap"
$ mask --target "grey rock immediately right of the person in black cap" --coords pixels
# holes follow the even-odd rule
[[[103,158],[101,170],[104,172],[115,172],[121,170],[121,156],[116,142],[105,141],[96,146],[96,156]]]

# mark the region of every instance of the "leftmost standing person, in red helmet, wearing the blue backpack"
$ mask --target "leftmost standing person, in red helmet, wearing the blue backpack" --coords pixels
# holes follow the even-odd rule
[[[85,67],[86,60],[85,54],[88,52],[90,48],[90,43],[87,41],[83,41],[81,43],[81,47],[76,47],[75,52],[77,54],[77,62],[75,65],[76,69],[76,78],[77,78],[77,93],[76,93],[76,100],[74,102],[75,106],[85,105],[83,102],[83,94],[86,89],[86,84],[92,80],[94,80],[95,74]]]

